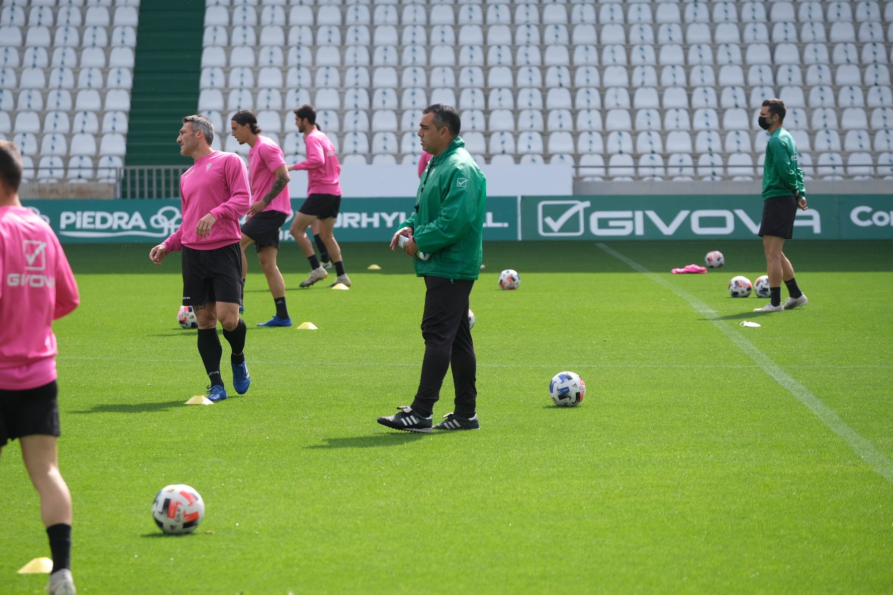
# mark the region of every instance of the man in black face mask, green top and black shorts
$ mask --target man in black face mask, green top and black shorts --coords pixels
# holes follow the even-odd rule
[[[767,99],[760,108],[760,128],[771,136],[766,145],[763,166],[763,221],[760,236],[766,254],[766,274],[769,276],[771,302],[755,312],[792,310],[808,302],[797,286],[794,268],[781,251],[784,241],[794,232],[797,207],[806,210],[806,190],[803,171],[797,166],[797,145],[781,122],[787,111],[780,99]],[[781,305],[781,281],[788,286],[790,297]]]

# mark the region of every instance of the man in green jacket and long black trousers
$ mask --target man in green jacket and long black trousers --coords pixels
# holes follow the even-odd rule
[[[411,406],[379,417],[381,425],[397,430],[431,431],[434,403],[450,367],[455,411],[434,429],[480,429],[468,297],[480,274],[487,178],[465,150],[460,126],[459,114],[448,105],[436,103],[422,112],[421,148],[433,157],[421,176],[415,212],[391,239],[391,250],[403,244],[404,252],[413,257],[415,274],[424,277],[427,288],[421,317],[425,356],[419,390]]]

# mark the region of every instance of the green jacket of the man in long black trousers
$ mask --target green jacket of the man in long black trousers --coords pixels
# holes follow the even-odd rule
[[[487,206],[487,178],[456,136],[432,157],[419,181],[415,213],[400,224],[412,227],[420,252],[413,259],[418,277],[476,280],[483,249],[481,236]]]

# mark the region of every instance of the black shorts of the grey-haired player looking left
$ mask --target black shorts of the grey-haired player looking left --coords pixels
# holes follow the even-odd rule
[[[238,242],[196,250],[183,246],[183,305],[238,303],[242,297],[242,252]]]

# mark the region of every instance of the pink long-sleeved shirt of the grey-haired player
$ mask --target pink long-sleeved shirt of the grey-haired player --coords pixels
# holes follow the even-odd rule
[[[179,229],[163,244],[168,252],[183,246],[196,250],[214,250],[242,239],[238,219],[251,207],[245,163],[236,153],[214,151],[196,159],[195,165],[179,178],[180,210],[183,220]],[[214,219],[211,234],[196,234],[198,220],[211,213]]]

